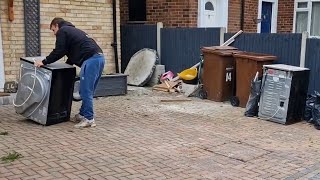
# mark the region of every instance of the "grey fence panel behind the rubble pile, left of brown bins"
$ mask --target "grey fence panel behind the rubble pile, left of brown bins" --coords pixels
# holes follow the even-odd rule
[[[161,64],[179,73],[199,62],[200,48],[220,44],[220,28],[163,28]]]

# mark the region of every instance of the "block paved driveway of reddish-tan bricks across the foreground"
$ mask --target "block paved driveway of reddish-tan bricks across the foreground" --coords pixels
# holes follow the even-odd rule
[[[320,179],[319,133],[228,103],[137,89],[95,101],[98,126],[43,127],[0,107],[0,179]],[[72,115],[79,103],[73,104]]]

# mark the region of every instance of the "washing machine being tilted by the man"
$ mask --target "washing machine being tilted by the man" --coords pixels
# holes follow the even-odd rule
[[[44,57],[20,58],[20,80],[14,100],[18,114],[48,126],[69,120],[76,68],[65,63],[35,67]]]

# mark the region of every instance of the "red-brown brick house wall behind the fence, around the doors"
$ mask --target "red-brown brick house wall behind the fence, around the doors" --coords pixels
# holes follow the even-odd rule
[[[120,0],[121,24],[129,19],[128,0]],[[163,22],[164,27],[197,27],[197,0],[147,0],[147,23]],[[246,0],[244,31],[257,32],[258,0]],[[294,0],[279,0],[277,32],[292,32]],[[241,27],[241,0],[229,0],[228,32]]]

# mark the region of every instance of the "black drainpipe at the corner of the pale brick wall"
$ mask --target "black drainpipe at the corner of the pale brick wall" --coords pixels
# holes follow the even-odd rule
[[[116,0],[112,0],[113,9],[113,43],[111,46],[114,51],[114,63],[116,66],[116,73],[119,73],[119,61],[118,61],[118,44],[117,44],[117,3]]]

